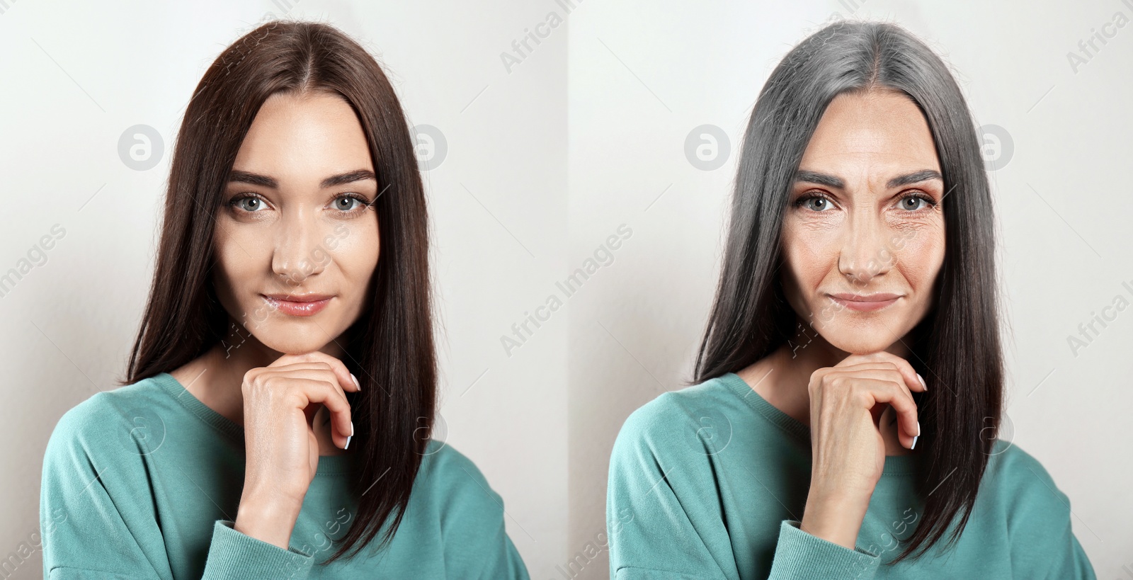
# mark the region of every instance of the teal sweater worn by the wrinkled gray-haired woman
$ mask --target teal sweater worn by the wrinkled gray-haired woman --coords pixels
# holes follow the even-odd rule
[[[885,458],[850,549],[799,529],[811,468],[806,425],[732,373],[664,393],[630,415],[614,443],[611,577],[1096,578],[1071,530],[1070,502],[1042,466],[1003,441],[994,453],[952,549],[942,548],[945,536],[925,556],[888,566],[923,509],[915,453]]]

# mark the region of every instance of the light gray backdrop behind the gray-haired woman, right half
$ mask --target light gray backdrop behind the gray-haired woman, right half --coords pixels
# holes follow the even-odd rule
[[[603,530],[606,461],[622,420],[691,376],[735,145],[759,89],[792,46],[844,17],[895,22],[920,36],[951,63],[977,122],[1013,138],[1013,157],[990,174],[1008,324],[1005,425],[1014,433],[1004,438],[1041,461],[1070,497],[1098,577],[1133,578],[1133,306],[1076,357],[1067,346],[1116,296],[1133,304],[1122,287],[1133,287],[1133,188],[1124,177],[1133,22],[1076,74],[1066,57],[1115,12],[1133,19],[1133,2],[997,5],[617,1],[572,17],[571,264],[620,222],[634,233],[572,305],[571,554]],[[706,123],[732,144],[715,171],[693,168],[682,147]],[[603,554],[583,577],[606,578],[605,566]]]

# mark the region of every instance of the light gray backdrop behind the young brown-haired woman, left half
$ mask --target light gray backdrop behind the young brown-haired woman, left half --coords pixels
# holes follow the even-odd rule
[[[0,298],[0,489],[9,498],[0,556],[37,531],[43,449],[58,418],[123,372],[185,105],[220,51],[271,11],[355,35],[386,67],[410,123],[445,135],[446,159],[424,176],[441,417],[448,442],[503,497],[530,569],[551,570],[566,546],[566,317],[511,358],[499,336],[565,264],[565,28],[509,75],[499,53],[545,16],[543,6],[287,7],[19,0],[0,15],[0,271],[52,224],[66,230],[48,262]],[[136,123],[165,140],[148,171],[118,156],[119,136]],[[42,578],[42,558],[32,560],[15,578]]]

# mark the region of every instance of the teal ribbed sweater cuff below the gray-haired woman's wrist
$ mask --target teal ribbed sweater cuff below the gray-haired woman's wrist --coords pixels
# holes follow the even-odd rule
[[[803,531],[798,520],[780,523],[770,578],[874,578],[881,558]]]

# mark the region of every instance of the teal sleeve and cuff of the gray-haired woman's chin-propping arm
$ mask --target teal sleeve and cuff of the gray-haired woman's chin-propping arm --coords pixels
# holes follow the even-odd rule
[[[622,426],[606,495],[612,578],[739,580],[714,467],[705,453],[689,453],[679,441],[679,434],[695,433],[698,426],[665,395]],[[878,555],[812,536],[799,521],[783,520],[766,532],[777,534],[772,580],[867,580],[880,564]]]

